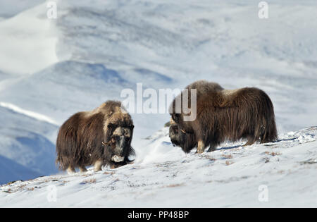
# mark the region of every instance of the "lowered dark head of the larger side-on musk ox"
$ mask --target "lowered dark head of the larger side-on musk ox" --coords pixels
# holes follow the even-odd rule
[[[180,126],[171,119],[170,121],[170,142],[174,146],[181,147],[186,153],[190,152],[197,146],[196,137],[194,133],[185,132]]]

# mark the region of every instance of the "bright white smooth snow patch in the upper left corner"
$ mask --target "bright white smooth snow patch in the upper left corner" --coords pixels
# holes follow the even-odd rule
[[[46,4],[1,20],[0,32],[5,33],[0,35],[0,70],[29,74],[58,61],[58,30],[46,18]]]

